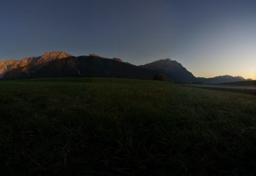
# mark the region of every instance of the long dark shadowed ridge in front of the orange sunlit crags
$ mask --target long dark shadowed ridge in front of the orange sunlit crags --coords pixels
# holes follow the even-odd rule
[[[35,69],[36,68],[36,69]],[[107,59],[98,55],[66,57],[8,71],[3,79],[49,78],[49,77],[122,77],[152,79],[154,71],[122,62],[121,59]]]

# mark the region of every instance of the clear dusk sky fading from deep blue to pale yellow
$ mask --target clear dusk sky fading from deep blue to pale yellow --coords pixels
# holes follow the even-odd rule
[[[256,1],[0,0],[1,60],[55,50],[256,79]]]

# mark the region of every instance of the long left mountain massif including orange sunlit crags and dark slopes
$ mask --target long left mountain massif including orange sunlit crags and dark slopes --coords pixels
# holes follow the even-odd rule
[[[99,55],[74,57],[65,52],[47,52],[39,57],[12,60],[0,66],[2,79],[49,77],[122,77],[152,79],[156,72],[139,68],[121,59]]]

